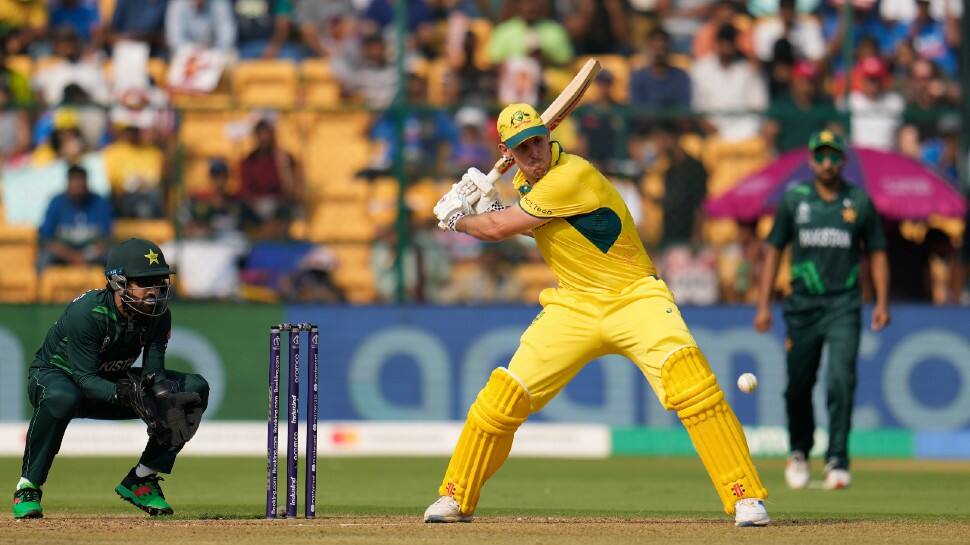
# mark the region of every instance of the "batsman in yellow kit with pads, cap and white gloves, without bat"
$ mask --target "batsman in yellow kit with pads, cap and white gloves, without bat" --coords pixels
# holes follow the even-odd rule
[[[531,106],[506,107],[498,132],[499,149],[519,167],[519,202],[504,207],[489,179],[471,169],[435,206],[439,226],[486,241],[531,234],[559,287],[539,296],[542,311],[508,368],[492,372],[469,408],[425,522],[470,522],[519,426],[590,360],[620,354],[640,368],[661,404],[677,411],[735,524],[768,524],[768,491],[741,424],[619,193],[588,161],[550,141]]]

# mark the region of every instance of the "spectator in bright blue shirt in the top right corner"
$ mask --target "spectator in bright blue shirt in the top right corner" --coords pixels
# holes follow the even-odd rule
[[[954,77],[959,68],[956,52],[960,44],[959,25],[959,19],[950,15],[946,21],[934,19],[929,0],[916,0],[916,18],[896,23],[890,50],[895,50],[900,42],[912,42],[919,57],[933,61],[944,73]]]

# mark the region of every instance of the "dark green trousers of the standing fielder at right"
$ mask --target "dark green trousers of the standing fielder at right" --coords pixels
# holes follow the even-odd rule
[[[796,306],[796,305],[792,305]],[[856,363],[862,317],[858,307],[819,305],[785,310],[788,330],[788,387],[785,407],[788,413],[788,439],[791,451],[805,456],[812,450],[815,412],[812,389],[828,345],[826,405],[829,414],[829,448],[826,463],[849,468],[849,430],[855,401]]]

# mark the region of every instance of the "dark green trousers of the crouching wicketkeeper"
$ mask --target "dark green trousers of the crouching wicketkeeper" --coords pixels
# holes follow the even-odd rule
[[[203,405],[208,403],[209,384],[200,375],[168,370],[165,375],[178,381],[182,391],[198,393]],[[74,379],[60,369],[31,368],[27,377],[27,396],[34,406],[34,414],[27,428],[21,476],[37,486],[47,481],[47,474],[71,420],[138,419],[138,415],[128,407],[85,397]],[[154,438],[149,438],[139,462],[162,473],[171,473],[180,450],[181,447],[163,446]]]

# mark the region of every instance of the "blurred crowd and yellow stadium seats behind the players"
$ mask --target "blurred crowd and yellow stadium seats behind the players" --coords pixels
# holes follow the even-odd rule
[[[184,298],[536,302],[531,239],[431,208],[490,169],[502,105],[541,110],[596,56],[554,137],[681,303],[751,302],[770,214],[703,204],[812,132],[965,193],[961,2],[844,1],[0,0],[0,300],[70,300],[144,236]],[[894,300],[970,304],[963,226],[885,221]]]

